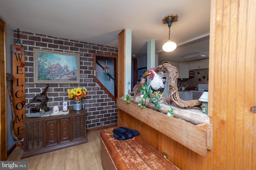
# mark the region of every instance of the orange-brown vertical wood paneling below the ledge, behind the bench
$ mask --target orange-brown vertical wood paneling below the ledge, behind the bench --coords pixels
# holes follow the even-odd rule
[[[206,157],[196,154],[192,150],[184,147],[180,143],[174,141],[173,139],[167,137],[163,133],[160,133],[156,129],[150,127],[135,119],[128,113],[125,113],[122,110],[118,110],[122,121],[118,122],[120,125],[128,125],[132,129],[137,129],[140,132],[140,136],[151,146],[153,146],[158,152],[167,154],[168,160],[175,164],[180,169],[206,169]],[[138,113],[140,114],[140,113]],[[119,115],[118,115],[119,116]],[[169,129],[172,131],[172,129]]]

